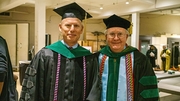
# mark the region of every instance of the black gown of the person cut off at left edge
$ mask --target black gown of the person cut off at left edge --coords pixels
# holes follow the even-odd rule
[[[17,101],[17,91],[6,40],[0,36],[0,82],[4,82],[0,101]]]

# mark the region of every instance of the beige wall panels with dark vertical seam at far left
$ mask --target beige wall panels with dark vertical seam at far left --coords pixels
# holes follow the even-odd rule
[[[28,60],[29,24],[0,24],[0,29],[0,36],[8,44],[12,66],[17,66],[19,61]]]

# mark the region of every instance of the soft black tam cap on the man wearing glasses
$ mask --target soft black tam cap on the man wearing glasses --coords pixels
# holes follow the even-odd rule
[[[121,18],[115,14],[107,19],[103,19],[103,21],[106,25],[106,29],[111,27],[122,27],[127,30],[131,25],[131,23],[128,20]]]

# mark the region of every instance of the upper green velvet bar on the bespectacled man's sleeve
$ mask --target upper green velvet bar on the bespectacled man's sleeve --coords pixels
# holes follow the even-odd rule
[[[157,79],[156,76],[143,76],[139,82],[142,85],[156,85],[157,84]]]

